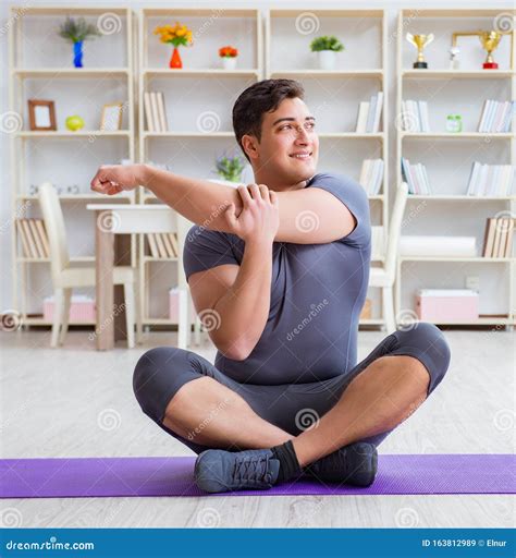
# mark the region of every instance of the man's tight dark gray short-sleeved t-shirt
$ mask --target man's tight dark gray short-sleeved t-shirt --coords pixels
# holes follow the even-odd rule
[[[274,242],[270,311],[258,343],[244,361],[217,352],[214,365],[242,384],[308,384],[345,374],[357,364],[358,319],[371,257],[369,202],[363,186],[333,173],[306,187],[333,194],[355,216],[347,235],[325,244]],[[337,203],[337,202],[336,202]],[[299,226],[314,215],[299,215]],[[235,234],[194,226],[186,238],[186,278],[223,264],[239,265],[245,243]],[[242,325],[245,327],[245,324]]]

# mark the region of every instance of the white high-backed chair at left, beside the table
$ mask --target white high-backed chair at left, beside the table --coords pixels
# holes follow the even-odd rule
[[[50,347],[63,344],[69,328],[70,305],[74,288],[95,287],[95,267],[71,267],[66,246],[64,218],[56,189],[49,182],[39,186],[39,203],[47,229],[50,265],[53,283],[54,307]],[[130,266],[115,266],[113,284],[124,286],[127,345],[134,347],[134,324],[137,322],[139,340],[140,324],[136,320],[135,283],[136,269]]]

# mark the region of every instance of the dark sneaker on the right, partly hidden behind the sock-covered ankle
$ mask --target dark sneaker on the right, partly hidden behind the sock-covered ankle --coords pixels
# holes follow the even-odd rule
[[[370,486],[377,470],[377,448],[372,444],[357,441],[310,463],[305,474],[328,483]]]

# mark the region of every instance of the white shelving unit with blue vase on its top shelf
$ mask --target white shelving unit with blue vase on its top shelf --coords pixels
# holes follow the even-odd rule
[[[10,15],[9,106],[21,123],[11,134],[13,303],[20,308],[22,325],[48,326],[51,324],[44,319],[41,312],[42,299],[53,292],[50,259],[22,256],[15,219],[40,217],[38,196],[30,191],[29,184],[51,181],[58,192],[65,190],[60,193],[60,201],[67,232],[79,226],[82,230],[89,230],[81,238],[70,234],[71,262],[89,265],[95,262],[95,223],[88,221],[90,216],[85,204],[100,199],[113,203],[114,199],[93,193],[89,180],[101,163],[135,160],[135,21],[128,9],[102,5],[13,7]],[[101,34],[85,43],[84,68],[73,66],[72,45],[58,36],[59,25],[69,15],[85,17],[88,23],[96,24]],[[40,46],[42,41],[45,48]],[[29,98],[54,101],[57,131],[28,130]],[[122,130],[99,130],[102,106],[118,101],[125,104]],[[83,117],[85,130],[66,130],[64,121],[72,114]],[[70,165],[73,165],[73,174]],[[69,193],[61,186],[62,182],[70,181],[75,183],[72,190],[79,193]],[[116,201],[134,203],[135,196],[118,196]],[[91,255],[74,255],[74,252]],[[135,257],[133,239],[133,265]]]

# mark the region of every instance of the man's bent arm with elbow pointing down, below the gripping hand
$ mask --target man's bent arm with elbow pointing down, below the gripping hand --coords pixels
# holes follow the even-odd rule
[[[270,310],[271,274],[272,243],[248,242],[239,267],[219,266],[188,278],[195,308],[216,325],[208,333],[228,359],[247,359],[261,337]]]

